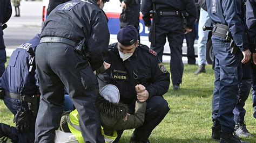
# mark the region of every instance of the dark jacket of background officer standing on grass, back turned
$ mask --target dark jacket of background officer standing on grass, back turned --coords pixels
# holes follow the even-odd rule
[[[142,14],[145,25],[151,25],[150,11],[153,10],[153,3],[156,5],[156,11],[185,11],[188,13],[187,27],[192,28],[197,18],[196,4],[192,0],[143,0]]]

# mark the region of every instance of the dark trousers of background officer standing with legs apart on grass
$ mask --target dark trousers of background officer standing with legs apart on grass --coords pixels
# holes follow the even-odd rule
[[[149,40],[152,41],[152,26],[150,28]],[[182,45],[184,39],[183,19],[181,17],[160,17],[156,24],[156,42],[151,43],[151,49],[157,52],[162,60],[166,37],[169,41],[171,51],[171,78],[173,85],[179,85],[183,76]]]

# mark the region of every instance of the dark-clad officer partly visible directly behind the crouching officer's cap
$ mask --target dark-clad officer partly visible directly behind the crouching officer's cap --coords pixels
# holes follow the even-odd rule
[[[120,28],[133,25],[138,31],[139,36],[139,10],[140,0],[120,0],[122,13],[120,14]]]

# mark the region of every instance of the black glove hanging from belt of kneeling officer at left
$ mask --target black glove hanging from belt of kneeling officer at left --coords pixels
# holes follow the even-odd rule
[[[28,111],[25,108],[20,108],[14,117],[14,123],[16,123],[16,129],[20,133],[24,133],[29,129]]]

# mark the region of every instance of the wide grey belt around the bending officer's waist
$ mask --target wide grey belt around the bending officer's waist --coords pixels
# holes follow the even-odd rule
[[[40,40],[40,44],[43,42],[60,42],[72,47],[76,47],[76,42],[64,37],[43,37]]]

